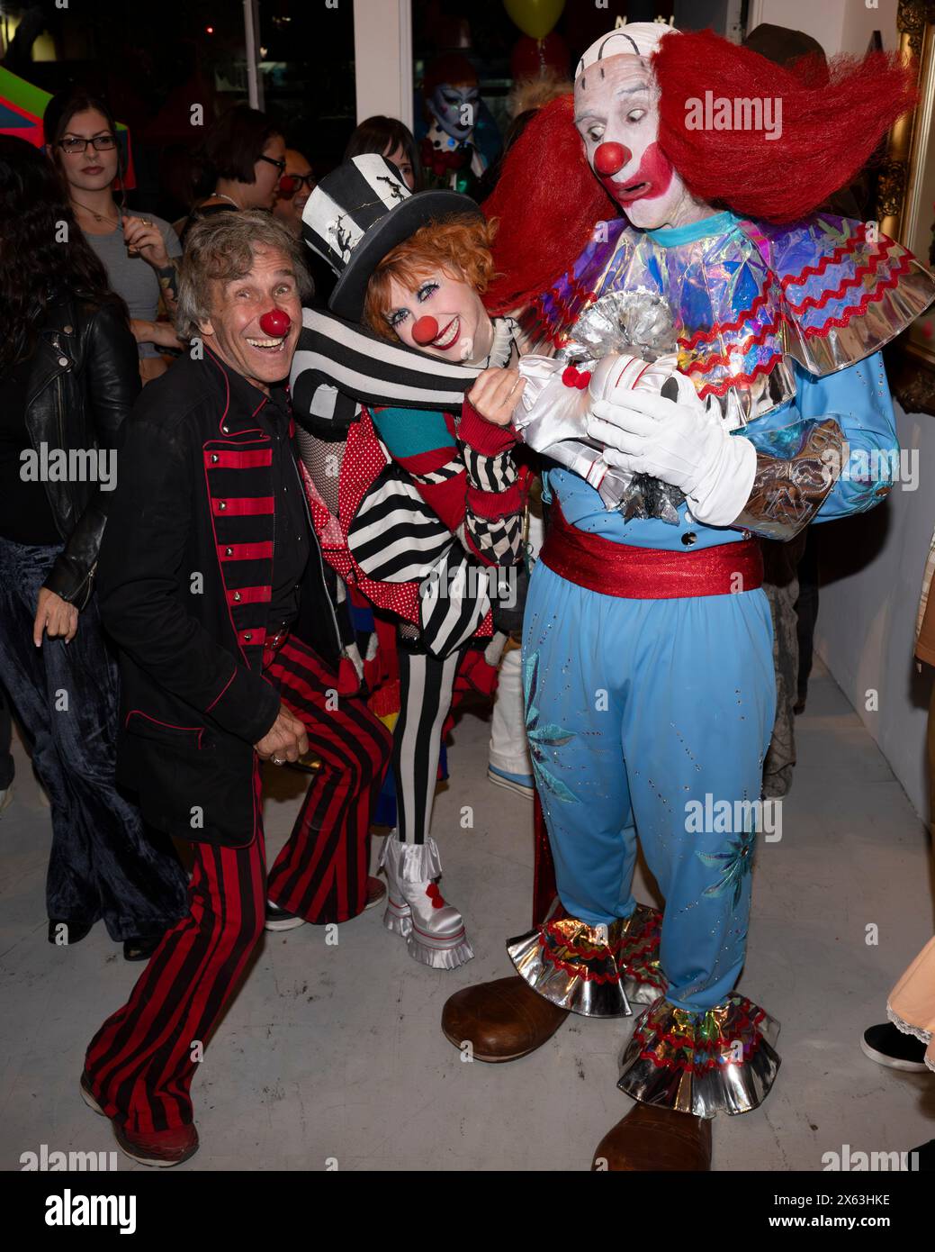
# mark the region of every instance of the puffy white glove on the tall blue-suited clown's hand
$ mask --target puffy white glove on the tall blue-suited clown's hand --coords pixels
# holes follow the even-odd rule
[[[756,449],[750,439],[725,431],[690,378],[672,377],[677,401],[618,389],[618,401],[593,404],[587,433],[605,444],[608,464],[678,487],[692,517],[707,526],[730,526],[750,498]]]

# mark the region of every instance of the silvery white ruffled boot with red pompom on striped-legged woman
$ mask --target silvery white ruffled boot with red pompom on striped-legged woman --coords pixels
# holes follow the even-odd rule
[[[406,939],[412,959],[434,969],[457,969],[471,960],[464,919],[434,881],[442,873],[434,839],[403,844],[393,831],[383,840],[381,865],[387,874],[383,925]]]

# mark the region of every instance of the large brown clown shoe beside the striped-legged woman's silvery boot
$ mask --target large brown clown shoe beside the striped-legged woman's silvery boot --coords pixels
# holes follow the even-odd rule
[[[442,1033],[459,1048],[471,1043],[476,1060],[516,1060],[551,1039],[568,1017],[513,974],[456,992],[442,1009]]]

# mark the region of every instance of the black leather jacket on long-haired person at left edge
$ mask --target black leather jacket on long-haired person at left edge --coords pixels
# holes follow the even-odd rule
[[[139,394],[136,343],[119,304],[61,295],[49,304],[30,361],[26,429],[36,452],[115,448]],[[88,603],[110,492],[96,482],[45,482],[65,542],[45,586],[81,610]]]

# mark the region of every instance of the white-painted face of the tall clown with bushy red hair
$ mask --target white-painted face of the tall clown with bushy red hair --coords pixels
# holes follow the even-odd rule
[[[685,225],[713,212],[690,194],[658,145],[658,88],[646,58],[617,54],[580,74],[575,125],[591,169],[635,227]]]

